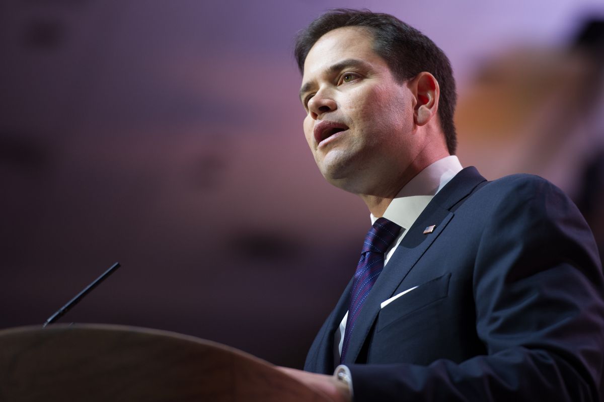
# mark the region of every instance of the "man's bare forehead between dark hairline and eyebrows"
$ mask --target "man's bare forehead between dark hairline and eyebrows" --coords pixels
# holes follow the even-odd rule
[[[384,62],[373,51],[373,33],[365,27],[342,27],[329,31],[315,42],[304,60],[303,82],[327,71],[345,59],[367,63]]]

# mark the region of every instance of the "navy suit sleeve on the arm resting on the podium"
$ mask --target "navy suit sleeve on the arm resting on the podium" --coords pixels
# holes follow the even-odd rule
[[[514,179],[492,211],[472,278],[487,354],[349,365],[356,402],[600,401],[604,288],[585,220],[538,177]]]

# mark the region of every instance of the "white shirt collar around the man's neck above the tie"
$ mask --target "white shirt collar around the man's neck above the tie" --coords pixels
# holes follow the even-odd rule
[[[446,156],[429,165],[400,189],[399,194],[386,208],[384,217],[402,228],[411,228],[435,194],[461,169],[459,159],[454,155]],[[370,217],[373,225],[377,218],[373,214]]]

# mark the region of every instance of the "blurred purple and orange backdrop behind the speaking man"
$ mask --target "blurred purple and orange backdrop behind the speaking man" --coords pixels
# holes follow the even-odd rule
[[[293,37],[334,7],[431,37],[458,80],[462,164],[545,176],[601,238],[602,60],[573,46],[601,0],[8,1],[0,328],[42,324],[120,261],[62,322],[178,331],[300,367],[370,224],[301,129]]]

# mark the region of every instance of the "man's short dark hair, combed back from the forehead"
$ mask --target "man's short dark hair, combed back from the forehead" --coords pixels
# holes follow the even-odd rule
[[[447,148],[455,155],[457,135],[455,112],[455,78],[445,53],[429,37],[398,18],[369,10],[336,8],[311,22],[296,37],[295,57],[304,74],[304,60],[321,36],[336,28],[365,27],[373,33],[373,51],[385,60],[400,82],[416,77],[422,71],[434,75],[440,86],[439,117]]]

